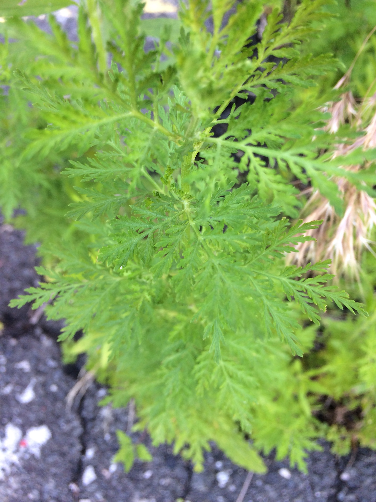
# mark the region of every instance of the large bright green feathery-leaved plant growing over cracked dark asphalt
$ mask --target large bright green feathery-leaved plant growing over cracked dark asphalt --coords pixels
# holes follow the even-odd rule
[[[331,158],[341,140],[323,130],[320,103],[296,104],[296,89],[336,64],[299,52],[324,3],[303,0],[287,24],[279,2],[192,0],[178,40],[165,26],[148,52],[143,6],[130,0],[82,3],[78,42],[53,17],[52,35],[4,23],[27,48],[2,48],[3,106],[24,122],[18,135],[3,127],[1,203],[8,215],[27,209],[19,224],[42,242],[47,278],[12,305],[49,303],[50,318],[66,319],[61,340],[82,330],[66,350],[86,351],[108,400],[134,398],[135,428],[197,469],[212,440],[247,469],[265,470],[258,451],[272,448],[304,469],[320,432],[315,382],[291,354],[315,331],[301,330],[294,305],[313,323],[328,302],[364,313],[327,284],[327,262],[284,263],[319,224],[286,219],[301,205],[294,180],[309,179],[338,213],[331,177],[370,195],[375,183],[371,168],[341,168],[363,152]],[[17,172],[25,179],[12,184]]]

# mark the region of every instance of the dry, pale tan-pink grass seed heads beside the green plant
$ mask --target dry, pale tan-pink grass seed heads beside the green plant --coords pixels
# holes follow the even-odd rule
[[[336,84],[336,89],[348,83],[355,61],[374,31],[376,26],[363,42],[349,70]],[[349,123],[357,132],[364,133],[350,144],[339,145],[333,158],[357,148],[368,150],[376,147],[376,93],[371,97],[366,95],[357,104],[351,91],[346,91],[339,101],[328,103],[322,111],[331,114],[325,131],[335,134],[341,125]],[[354,172],[364,167],[368,165],[364,163],[342,166],[343,169]],[[297,246],[298,252],[290,257],[290,261],[304,266],[308,262],[330,259],[333,274],[343,274],[359,280],[362,250],[367,248],[376,257],[371,247],[374,242],[370,239],[372,228],[376,226],[376,203],[366,192],[354,187],[344,178],[337,178],[334,181],[343,194],[346,208],[344,215],[338,216],[329,201],[315,190],[303,209],[303,214],[308,213],[304,222],[323,220],[323,223],[307,232],[316,240],[300,243]]]

